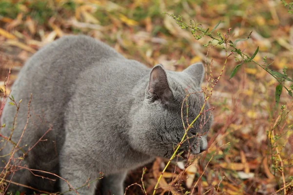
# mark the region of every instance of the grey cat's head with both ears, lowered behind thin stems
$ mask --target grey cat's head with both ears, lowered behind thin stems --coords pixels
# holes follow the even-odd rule
[[[132,147],[149,156],[169,158],[185,134],[183,123],[187,129],[202,113],[188,131],[189,138],[182,143],[179,152],[199,154],[207,149],[212,116],[200,87],[204,73],[202,63],[193,64],[182,72],[165,71],[162,65],[152,68],[145,97],[132,116]],[[189,93],[193,94],[188,96],[187,106],[183,100]]]

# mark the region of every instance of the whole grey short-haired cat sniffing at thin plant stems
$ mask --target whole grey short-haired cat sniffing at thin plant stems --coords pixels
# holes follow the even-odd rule
[[[44,46],[26,62],[12,86],[15,100],[22,99],[12,140],[17,142],[21,137],[31,94],[29,122],[20,146],[27,144],[23,147],[27,151],[52,130],[20,166],[60,175],[74,188],[103,172],[102,180],[78,192],[94,195],[97,183],[102,182],[104,195],[123,195],[127,171],[151,162],[155,156],[169,158],[173,154],[185,133],[181,105],[186,90],[200,92],[204,72],[202,63],[183,72],[165,71],[161,65],[149,69],[86,36],[65,36]],[[189,122],[203,103],[203,93],[188,98]],[[15,114],[16,107],[7,103],[1,117],[1,123],[6,124],[1,131],[4,136],[10,135]],[[181,151],[190,149],[198,154],[207,148],[206,133],[212,118],[209,112],[202,116],[188,132],[191,146],[186,141]],[[12,146],[8,143],[1,155],[8,154]],[[15,157],[21,155],[19,150]],[[8,158],[2,160],[7,162]],[[58,177],[33,173],[39,176],[22,169],[13,181],[47,192],[69,190]],[[23,190],[13,184],[10,187],[12,191]]]

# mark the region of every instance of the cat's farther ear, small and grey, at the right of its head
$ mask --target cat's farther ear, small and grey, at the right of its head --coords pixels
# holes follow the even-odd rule
[[[205,67],[200,62],[188,66],[188,68],[185,69],[183,72],[188,74],[195,81],[197,81],[198,85],[203,82],[205,77]]]

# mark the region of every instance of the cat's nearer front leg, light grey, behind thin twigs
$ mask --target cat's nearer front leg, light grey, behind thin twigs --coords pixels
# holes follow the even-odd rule
[[[71,150],[72,148],[70,146],[66,145],[65,143],[60,154],[61,177],[69,182],[70,188],[73,187],[76,189],[81,187],[77,190],[80,195],[94,195],[98,180],[89,185],[85,184],[99,177],[98,172],[90,168],[90,165],[86,165],[83,160],[84,158],[80,154],[77,154],[76,151]],[[60,186],[61,193],[69,190],[68,183],[62,179],[60,180]],[[76,193],[71,189],[66,195],[76,195]]]

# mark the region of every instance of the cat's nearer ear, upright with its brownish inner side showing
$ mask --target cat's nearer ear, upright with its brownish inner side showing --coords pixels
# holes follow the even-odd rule
[[[150,71],[146,95],[152,102],[161,100],[163,103],[167,103],[173,97],[166,71],[160,64],[154,66]]]

